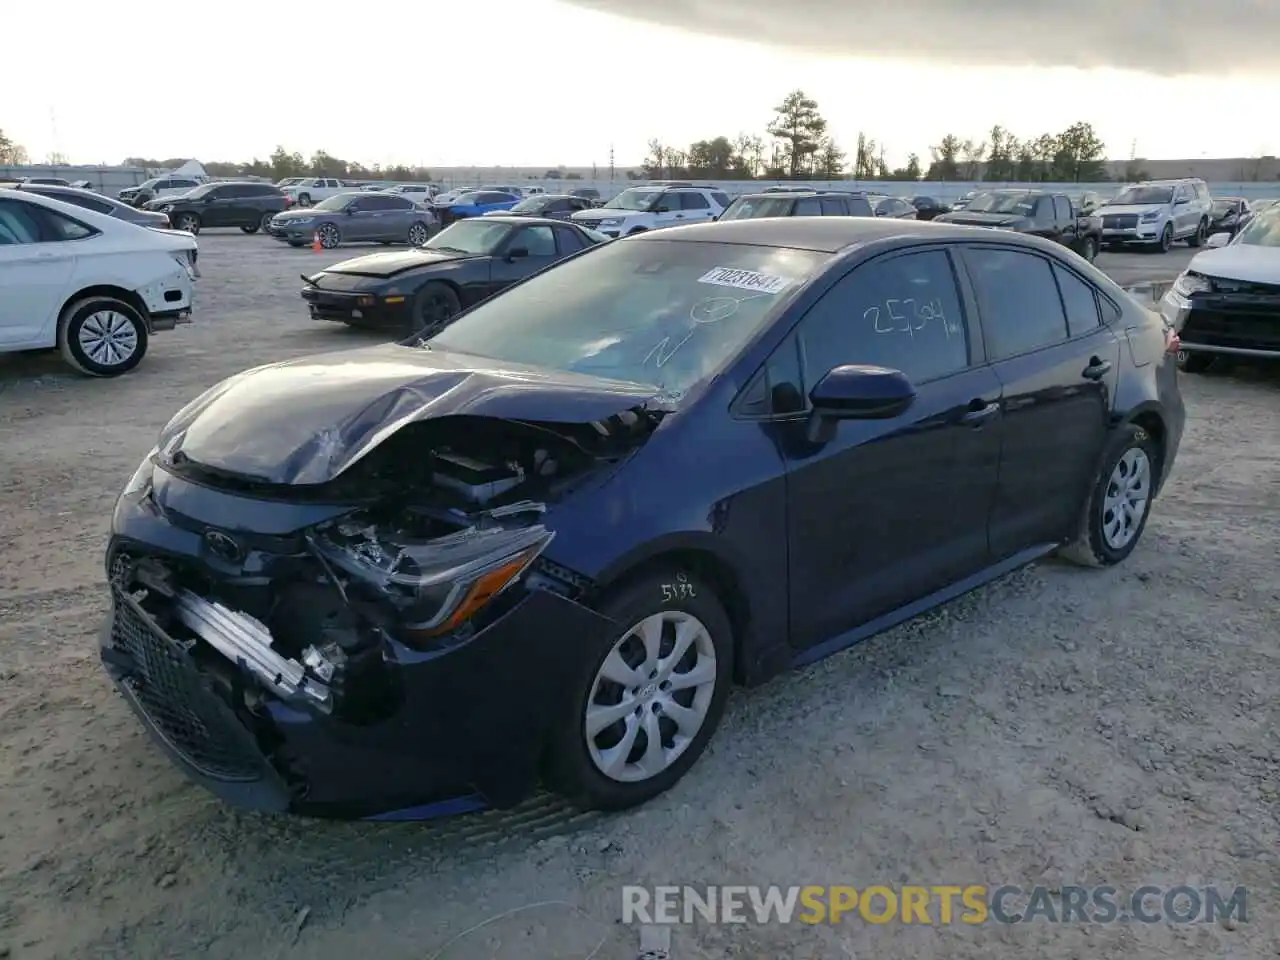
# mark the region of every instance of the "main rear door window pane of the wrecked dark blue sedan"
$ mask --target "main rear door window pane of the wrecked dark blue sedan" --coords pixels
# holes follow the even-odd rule
[[[992,360],[1066,339],[1066,315],[1044,257],[996,247],[969,247],[964,257]]]

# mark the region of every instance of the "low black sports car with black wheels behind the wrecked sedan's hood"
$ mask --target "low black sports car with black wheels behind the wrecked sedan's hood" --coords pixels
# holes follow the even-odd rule
[[[460,220],[421,247],[343,260],[303,275],[302,298],[314,320],[435,332],[485,297],[608,239],[547,218]]]

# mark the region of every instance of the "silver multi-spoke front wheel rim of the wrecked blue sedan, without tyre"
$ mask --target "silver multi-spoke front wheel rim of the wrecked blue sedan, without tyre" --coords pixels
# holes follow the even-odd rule
[[[716,645],[698,617],[668,609],[641,620],[591,684],[582,723],[591,763],[623,783],[668,769],[707,721],[716,678]]]

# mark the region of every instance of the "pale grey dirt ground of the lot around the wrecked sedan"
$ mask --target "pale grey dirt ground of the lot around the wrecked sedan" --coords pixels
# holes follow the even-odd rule
[[[678,928],[685,957],[1256,959],[1280,943],[1280,380],[1184,378],[1189,425],[1119,570],[1041,563],[739,695],[675,791],[442,824],[225,809],[111,692],[114,497],[183,402],[369,342],[307,320],[337,260],[201,237],[196,325],[133,375],[0,358],[0,957],[634,956],[623,883],[1248,887],[1245,923]],[[1107,256],[1171,278],[1188,253]]]

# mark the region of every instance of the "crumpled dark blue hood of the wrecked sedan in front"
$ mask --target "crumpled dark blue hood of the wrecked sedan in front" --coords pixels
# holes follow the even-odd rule
[[[269,484],[323,484],[408,424],[451,415],[586,424],[669,408],[648,384],[396,343],[223,380],[160,433],[160,456]]]

